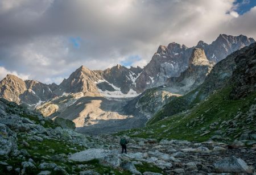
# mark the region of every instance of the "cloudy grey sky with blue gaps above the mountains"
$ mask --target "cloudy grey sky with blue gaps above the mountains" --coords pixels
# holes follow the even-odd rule
[[[145,66],[159,45],[256,38],[254,0],[0,0],[0,80],[59,84],[85,65]]]

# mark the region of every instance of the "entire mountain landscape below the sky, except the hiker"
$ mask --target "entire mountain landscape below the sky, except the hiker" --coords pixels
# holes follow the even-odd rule
[[[255,70],[254,39],[221,34],[59,85],[7,74],[0,174],[255,174]]]

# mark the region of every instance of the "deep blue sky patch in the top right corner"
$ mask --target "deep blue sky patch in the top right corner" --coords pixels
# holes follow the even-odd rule
[[[238,12],[239,15],[244,14],[245,12],[249,11],[251,8],[256,6],[255,0],[236,0],[234,5],[237,5],[237,9],[234,10]]]

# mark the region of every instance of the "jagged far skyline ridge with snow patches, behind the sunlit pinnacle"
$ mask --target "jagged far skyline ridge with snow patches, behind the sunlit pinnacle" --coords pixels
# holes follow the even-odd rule
[[[148,88],[166,84],[169,81],[168,78],[179,77],[188,68],[189,57],[194,48],[203,49],[208,60],[219,61],[228,53],[251,42],[254,42],[254,39],[243,35],[224,34],[220,34],[211,44],[199,41],[196,47],[191,48],[172,42],[167,47],[160,45],[151,61],[143,69],[139,66],[126,68],[116,65],[105,70],[89,70],[85,66],[80,66],[60,85],[46,85],[38,81],[23,81],[13,77],[19,84],[2,80],[0,96],[33,107],[65,93],[82,92],[84,95],[103,95],[108,98],[135,97]],[[220,54],[217,55],[217,53]],[[212,57],[213,55],[215,57]],[[14,91],[9,86],[6,88],[9,83],[10,86],[14,86]],[[47,95],[43,97],[44,93]]]

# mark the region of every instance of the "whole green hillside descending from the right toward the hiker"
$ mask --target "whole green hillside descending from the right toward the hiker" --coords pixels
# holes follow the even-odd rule
[[[217,91],[191,110],[167,116],[162,120],[159,120],[160,115],[156,115],[146,128],[130,130],[127,134],[159,140],[206,141],[213,137],[213,140],[229,142],[240,138],[245,132],[256,133],[256,93],[233,100],[229,98],[231,89],[232,87],[225,87]],[[181,105],[185,106],[182,103]],[[183,110],[184,107],[179,109]],[[249,140],[247,142],[253,143]]]

